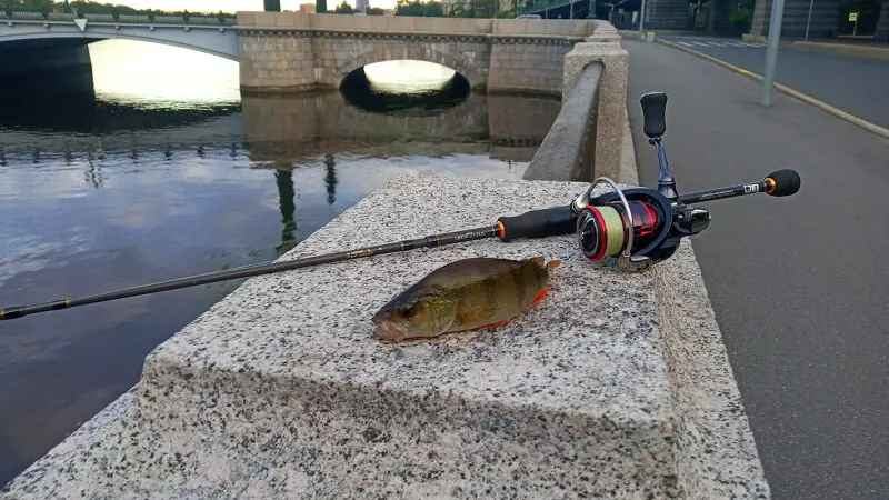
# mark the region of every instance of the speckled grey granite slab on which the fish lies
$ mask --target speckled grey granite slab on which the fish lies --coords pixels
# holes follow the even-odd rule
[[[284,258],[488,226],[585,187],[400,178]],[[508,326],[373,338],[382,303],[471,256],[562,266],[550,294]],[[160,346],[134,396],[3,498],[723,498],[722,482],[686,472],[712,463],[678,446],[668,373],[655,274],[590,263],[570,236],[306,268],[249,280]],[[727,486],[736,498],[755,489],[747,451],[718,463],[742,469]]]

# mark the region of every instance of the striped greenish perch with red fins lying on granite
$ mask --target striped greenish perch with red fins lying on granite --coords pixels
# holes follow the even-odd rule
[[[401,341],[506,324],[543,299],[559,263],[482,257],[446,264],[373,316],[377,338]]]

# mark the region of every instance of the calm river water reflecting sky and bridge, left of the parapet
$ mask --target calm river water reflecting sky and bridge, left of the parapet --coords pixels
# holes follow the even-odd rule
[[[236,62],[121,40],[90,52],[90,90],[0,102],[0,307],[273,260],[396,174],[520,178],[560,106],[467,93],[416,61],[344,92],[242,98]],[[0,486],[239,283],[0,322]]]

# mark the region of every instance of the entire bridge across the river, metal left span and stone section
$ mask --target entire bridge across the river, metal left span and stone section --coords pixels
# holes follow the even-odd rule
[[[17,64],[0,69],[0,77],[88,66],[87,43],[119,38],[238,60],[241,88],[248,92],[338,88],[346,76],[367,64],[412,59],[457,71],[473,90],[561,94],[565,56],[592,34],[596,22],[296,12],[79,19],[71,13],[16,12],[0,22],[0,51]]]

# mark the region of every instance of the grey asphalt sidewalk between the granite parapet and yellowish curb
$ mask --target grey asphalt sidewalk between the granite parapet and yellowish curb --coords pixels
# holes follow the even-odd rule
[[[802,178],[790,198],[708,203],[693,237],[775,499],[889,498],[889,140],[657,43],[625,40],[640,182],[657,153],[639,97],[668,94],[681,192]]]

